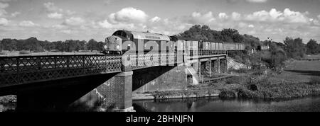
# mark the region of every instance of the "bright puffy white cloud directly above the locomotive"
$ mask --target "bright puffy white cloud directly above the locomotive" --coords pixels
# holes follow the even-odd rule
[[[144,23],[148,16],[137,8],[122,8],[117,13],[111,13],[108,17],[110,23]]]

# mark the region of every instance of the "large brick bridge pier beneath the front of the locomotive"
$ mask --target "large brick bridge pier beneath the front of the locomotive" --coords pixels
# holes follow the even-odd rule
[[[114,76],[113,83],[108,87],[106,101],[109,101],[107,111],[128,112],[132,107],[132,74],[124,71]]]

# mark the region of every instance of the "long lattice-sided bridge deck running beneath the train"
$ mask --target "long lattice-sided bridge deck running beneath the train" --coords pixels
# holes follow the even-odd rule
[[[193,51],[177,56],[177,53],[147,53],[126,55],[45,55],[0,57],[0,87],[28,84],[37,81],[66,79],[76,76],[121,72],[123,63],[131,69],[143,69],[182,63],[177,57],[204,59],[226,55],[225,51]],[[186,59],[184,59],[186,60]]]

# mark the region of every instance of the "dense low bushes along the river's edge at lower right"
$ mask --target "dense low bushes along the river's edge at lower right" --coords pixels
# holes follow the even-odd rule
[[[274,83],[269,79],[261,79],[248,84],[240,84],[236,88],[223,88],[220,91],[220,98],[298,98],[304,96],[319,96],[320,95],[320,78],[311,79],[310,83],[292,83],[282,82]],[[254,91],[250,86],[257,86]]]

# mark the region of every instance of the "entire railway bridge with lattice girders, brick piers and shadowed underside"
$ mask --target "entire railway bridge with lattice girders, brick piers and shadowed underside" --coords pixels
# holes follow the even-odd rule
[[[227,57],[228,50],[0,57],[0,96],[16,95],[18,111],[131,111],[133,91],[198,84],[227,71]]]

